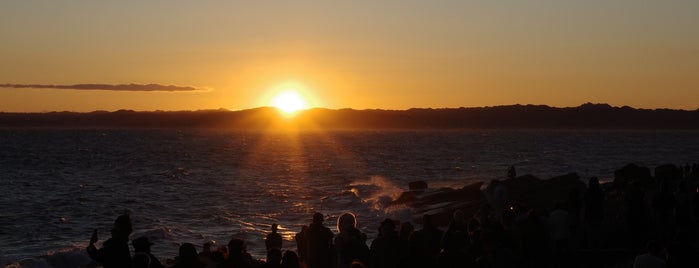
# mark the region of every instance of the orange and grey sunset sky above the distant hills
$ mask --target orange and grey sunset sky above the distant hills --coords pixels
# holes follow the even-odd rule
[[[699,108],[699,1],[0,1],[0,111]]]

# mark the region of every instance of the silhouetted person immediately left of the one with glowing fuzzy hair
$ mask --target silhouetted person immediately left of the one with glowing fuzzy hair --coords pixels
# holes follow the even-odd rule
[[[323,226],[323,214],[313,214],[313,222],[306,229],[307,254],[304,259],[308,268],[332,267],[333,262],[333,233]]]

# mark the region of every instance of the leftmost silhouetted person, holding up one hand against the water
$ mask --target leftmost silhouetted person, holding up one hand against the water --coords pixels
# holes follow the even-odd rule
[[[87,253],[94,261],[102,264],[104,268],[124,268],[131,267],[131,251],[129,250],[129,235],[133,231],[131,218],[128,214],[119,216],[114,221],[111,230],[112,237],[102,244],[102,248],[97,249],[97,230],[92,233]]]

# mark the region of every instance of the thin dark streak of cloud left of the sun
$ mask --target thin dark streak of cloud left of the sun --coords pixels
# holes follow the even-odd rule
[[[72,90],[109,90],[109,91],[165,91],[186,92],[206,91],[204,88],[191,86],[175,86],[160,84],[75,84],[75,85],[37,85],[37,84],[0,84],[0,88],[47,88],[47,89],[72,89]]]

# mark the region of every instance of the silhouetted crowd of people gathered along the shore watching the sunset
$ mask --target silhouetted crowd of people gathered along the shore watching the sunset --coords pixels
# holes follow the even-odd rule
[[[252,258],[242,239],[217,248],[205,244],[201,252],[185,243],[174,261],[163,265],[150,252],[148,238],[139,237],[131,241],[132,256],[131,221],[122,215],[100,249],[93,234],[87,252],[105,268],[699,267],[699,187],[690,185],[696,187],[696,181],[602,187],[591,178],[582,195],[552,200],[550,208],[509,204],[494,213],[486,205],[474,215],[456,210],[443,228],[429,214],[420,229],[385,219],[370,243],[352,213],[337,218],[337,233],[315,213],[296,234],[295,251],[282,250],[283,239],[272,225],[264,261]]]

